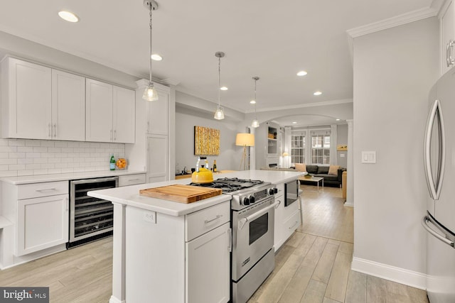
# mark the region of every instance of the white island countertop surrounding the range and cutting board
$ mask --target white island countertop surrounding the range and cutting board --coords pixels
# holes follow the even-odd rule
[[[238,172],[220,173],[215,175],[215,179],[224,177],[238,177],[241,179],[251,180],[264,180],[266,182],[272,182],[272,184],[278,184],[295,180],[297,177],[302,175],[301,172],[282,172],[282,171],[270,171],[270,170],[244,170]],[[205,209],[209,206],[219,204],[231,199],[229,194],[221,194],[220,196],[203,199],[193,203],[180,203],[173,202],[163,199],[156,199],[151,197],[143,197],[139,195],[140,189],[147,189],[153,187],[162,187],[171,184],[189,184],[191,179],[171,180],[166,182],[156,182],[148,184],[139,184],[126,187],[117,187],[112,189],[102,189],[87,194],[92,197],[99,199],[106,199],[108,201],[124,204],[127,206],[139,207],[149,211],[157,211],[162,214],[168,214],[171,216],[183,216],[190,214],[200,209]]]

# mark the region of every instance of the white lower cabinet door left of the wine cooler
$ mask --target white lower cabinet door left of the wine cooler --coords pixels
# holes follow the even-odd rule
[[[68,194],[18,200],[16,255],[68,242]]]

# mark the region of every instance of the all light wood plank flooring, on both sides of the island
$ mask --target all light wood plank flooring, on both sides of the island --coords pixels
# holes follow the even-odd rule
[[[423,290],[350,270],[353,209],[343,206],[341,189],[301,188],[304,224],[280,248],[274,271],[249,303],[428,302]],[[55,303],[107,303],[112,238],[2,270],[0,285],[48,286]]]

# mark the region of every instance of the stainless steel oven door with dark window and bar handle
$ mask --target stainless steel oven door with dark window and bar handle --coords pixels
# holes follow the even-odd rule
[[[245,275],[271,248],[274,234],[274,197],[232,211],[232,280]]]

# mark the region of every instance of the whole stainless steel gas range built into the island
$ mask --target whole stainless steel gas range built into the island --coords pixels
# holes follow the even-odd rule
[[[196,184],[193,184],[196,185]],[[275,267],[274,209],[277,187],[260,180],[225,178],[210,184],[231,194],[232,302],[245,303]]]

